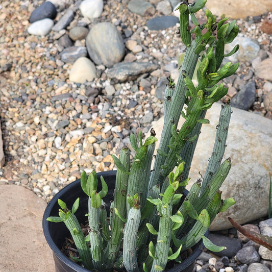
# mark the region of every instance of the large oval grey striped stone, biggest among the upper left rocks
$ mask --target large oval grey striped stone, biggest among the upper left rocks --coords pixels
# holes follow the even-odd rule
[[[97,23],[91,28],[86,37],[86,47],[96,65],[112,67],[125,55],[122,36],[110,22]]]

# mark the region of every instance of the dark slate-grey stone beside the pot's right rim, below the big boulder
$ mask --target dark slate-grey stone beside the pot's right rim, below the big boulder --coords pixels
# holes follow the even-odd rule
[[[209,239],[216,245],[226,246],[227,249],[216,252],[216,255],[219,257],[234,257],[235,254],[241,249],[241,243],[237,238],[231,238],[216,233],[210,233]]]

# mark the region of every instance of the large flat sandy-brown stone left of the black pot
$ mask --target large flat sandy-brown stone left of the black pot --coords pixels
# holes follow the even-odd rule
[[[46,202],[18,185],[0,186],[1,272],[55,271],[42,231]]]

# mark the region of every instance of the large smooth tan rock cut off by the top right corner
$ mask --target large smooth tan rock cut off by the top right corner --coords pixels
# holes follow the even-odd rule
[[[257,16],[269,11],[271,2],[269,0],[250,1],[244,0],[234,2],[232,0],[216,1],[209,0],[206,3],[206,8],[209,9],[214,15],[221,16],[224,14],[226,17],[233,19],[243,19],[248,16]]]

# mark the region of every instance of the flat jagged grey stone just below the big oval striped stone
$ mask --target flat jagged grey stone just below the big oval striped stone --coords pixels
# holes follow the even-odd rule
[[[108,70],[107,76],[123,82],[135,79],[142,73],[151,72],[157,68],[157,65],[149,62],[120,62]]]

